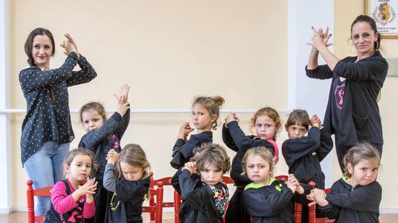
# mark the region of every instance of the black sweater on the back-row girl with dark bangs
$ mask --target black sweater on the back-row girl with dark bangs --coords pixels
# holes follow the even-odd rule
[[[332,138],[325,128],[311,127],[307,136],[284,141],[282,154],[289,173],[293,173],[298,182],[308,184],[312,181],[317,188],[325,188],[325,175],[320,162],[332,148]]]

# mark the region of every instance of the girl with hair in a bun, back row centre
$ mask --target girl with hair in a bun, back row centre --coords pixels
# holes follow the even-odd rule
[[[197,134],[187,136],[194,130],[188,122],[185,122],[180,130],[176,144],[174,144],[172,161],[173,168],[181,168],[192,157],[193,149],[206,142],[212,142],[212,129],[217,129],[219,108],[224,104],[224,99],[219,96],[197,96],[192,103],[192,122]]]

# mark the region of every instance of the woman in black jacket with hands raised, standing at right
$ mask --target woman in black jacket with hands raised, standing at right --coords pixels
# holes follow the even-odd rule
[[[359,15],[351,25],[351,40],[356,57],[338,59],[327,49],[328,29],[312,28],[312,46],[306,67],[307,76],[332,78],[324,126],[334,134],[338,162],[343,171],[343,156],[352,145],[367,141],[383,150],[383,133],[377,97],[387,76],[388,64],[380,52],[380,35],[371,17]],[[326,65],[318,66],[318,55]]]

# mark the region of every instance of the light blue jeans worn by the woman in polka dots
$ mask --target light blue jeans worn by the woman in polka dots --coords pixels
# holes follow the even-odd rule
[[[42,148],[26,160],[24,168],[33,188],[54,186],[64,179],[63,162],[69,152],[69,143],[57,145],[55,141],[45,142]],[[37,197],[35,215],[46,215],[51,208],[50,197]]]

